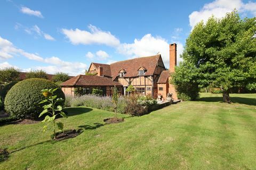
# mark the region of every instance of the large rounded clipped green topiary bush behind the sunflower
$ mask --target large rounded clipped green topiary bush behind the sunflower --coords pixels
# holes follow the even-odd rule
[[[64,99],[60,103],[63,106],[65,95],[57,84],[49,80],[33,78],[20,81],[9,90],[4,100],[5,111],[17,118],[37,118],[43,111],[43,104],[38,103],[45,99],[41,90],[51,88],[58,88],[54,95]]]

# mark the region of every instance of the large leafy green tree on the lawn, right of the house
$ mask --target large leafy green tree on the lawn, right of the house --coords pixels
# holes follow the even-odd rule
[[[233,11],[222,19],[212,16],[206,24],[198,23],[182,58],[196,67],[199,87],[220,88],[226,103],[233,87],[256,89],[256,18],[241,20]]]

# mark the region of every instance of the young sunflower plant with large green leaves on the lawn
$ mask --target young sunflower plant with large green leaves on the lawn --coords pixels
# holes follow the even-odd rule
[[[61,101],[64,101],[64,99],[57,98],[58,96],[54,95],[54,91],[56,90],[58,90],[58,88],[42,90],[42,94],[45,97],[45,99],[42,100],[39,104],[45,104],[45,105],[43,106],[44,110],[38,116],[38,117],[41,117],[45,114],[50,115],[50,116],[46,115],[42,122],[52,122],[54,139],[56,138],[55,126],[57,125],[60,131],[63,130],[63,123],[61,122],[55,123],[56,116],[61,115],[62,117],[66,117],[66,118],[68,117],[64,112],[62,112],[62,106],[59,105]],[[46,129],[47,129],[47,125],[44,125],[44,131],[46,131]]]

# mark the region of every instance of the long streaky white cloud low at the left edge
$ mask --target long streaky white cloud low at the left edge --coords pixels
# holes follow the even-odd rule
[[[56,72],[66,72],[70,75],[77,75],[80,73],[84,73],[87,65],[81,62],[66,62],[62,61],[58,57],[49,57],[43,58],[39,56],[37,53],[27,53],[22,49],[15,47],[9,40],[3,39],[0,37],[0,58],[7,59],[15,56],[25,56],[29,60],[35,60],[41,63],[50,64],[49,66],[35,66],[29,69],[23,70],[31,70],[31,69],[42,69],[47,73],[55,74]],[[11,67],[7,62],[1,63],[0,68]],[[22,69],[21,69],[22,70]]]

